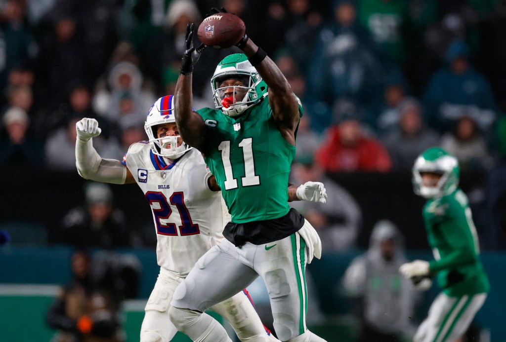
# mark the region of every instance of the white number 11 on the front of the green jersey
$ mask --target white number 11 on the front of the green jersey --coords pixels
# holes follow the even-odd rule
[[[242,148],[242,156],[244,159],[244,177],[241,177],[242,186],[259,185],[260,177],[255,175],[255,160],[253,158],[253,148],[251,143],[253,138],[244,138],[239,142]],[[237,188],[237,178],[234,178],[232,172],[232,164],[230,163],[230,141],[222,141],[218,146],[218,150],[222,152],[223,168],[225,170],[225,190]]]

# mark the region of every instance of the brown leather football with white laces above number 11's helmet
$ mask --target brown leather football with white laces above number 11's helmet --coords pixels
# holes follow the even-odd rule
[[[237,44],[245,32],[241,18],[232,13],[217,13],[202,21],[197,36],[207,46],[226,48]]]

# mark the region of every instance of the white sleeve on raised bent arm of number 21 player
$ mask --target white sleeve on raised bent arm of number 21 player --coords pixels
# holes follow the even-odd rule
[[[126,167],[116,159],[102,159],[93,147],[93,139],[75,142],[75,165],[82,178],[98,182],[124,184]]]

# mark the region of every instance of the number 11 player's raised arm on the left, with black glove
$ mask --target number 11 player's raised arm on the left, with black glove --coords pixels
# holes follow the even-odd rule
[[[186,27],[185,53],[181,61],[180,74],[176,83],[174,113],[179,133],[183,140],[200,152],[205,152],[205,124],[202,117],[193,110],[193,65],[197,62],[205,45],[193,47],[193,24]]]

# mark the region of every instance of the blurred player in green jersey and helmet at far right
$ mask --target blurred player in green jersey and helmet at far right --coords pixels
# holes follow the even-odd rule
[[[440,148],[428,149],[413,166],[414,191],[427,199],[423,216],[434,260],[406,263],[400,272],[425,288],[430,277],[437,276],[443,289],[418,327],[417,342],[461,337],[489,291],[468,198],[458,187],[458,178],[457,159]]]

